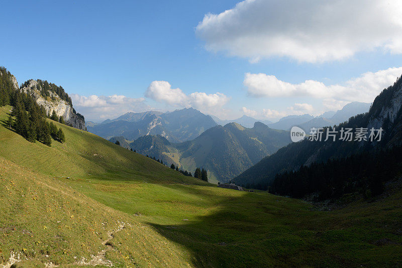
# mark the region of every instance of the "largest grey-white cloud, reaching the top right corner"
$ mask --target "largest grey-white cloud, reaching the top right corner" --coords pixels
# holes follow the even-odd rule
[[[324,62],[380,48],[402,53],[400,0],[246,0],[207,14],[196,34],[210,51],[257,62],[285,56]]]

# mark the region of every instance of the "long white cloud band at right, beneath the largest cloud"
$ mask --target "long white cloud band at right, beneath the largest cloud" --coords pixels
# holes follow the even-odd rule
[[[254,97],[314,97],[326,102],[350,101],[372,102],[382,89],[392,85],[402,73],[402,67],[378,72],[367,72],[358,78],[346,81],[345,85],[325,85],[323,82],[306,80],[292,84],[277,79],[274,75],[246,73],[243,84]]]

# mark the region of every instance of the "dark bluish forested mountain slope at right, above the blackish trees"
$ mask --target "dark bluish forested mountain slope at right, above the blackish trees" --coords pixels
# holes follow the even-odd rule
[[[367,142],[310,142],[292,143],[272,156],[262,159],[233,180],[238,184],[269,184],[277,173],[297,170],[301,165],[350,156],[373,149],[400,145],[402,139],[402,79],[384,89],[374,100],[367,113],[353,116],[338,127],[382,127],[384,136],[379,143]]]

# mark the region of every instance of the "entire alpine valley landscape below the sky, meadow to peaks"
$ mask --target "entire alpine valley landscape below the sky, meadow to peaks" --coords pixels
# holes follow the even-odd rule
[[[400,266],[401,85],[268,125],[192,108],[85,124],[61,86],[2,67],[0,265]],[[311,120],[384,136],[290,143]]]

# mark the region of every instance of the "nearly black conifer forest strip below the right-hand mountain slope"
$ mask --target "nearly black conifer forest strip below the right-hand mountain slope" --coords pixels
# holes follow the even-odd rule
[[[398,146],[301,166],[297,171],[277,174],[269,192],[295,198],[314,194],[318,201],[351,193],[370,198],[383,192],[385,182],[400,175],[401,150]]]

